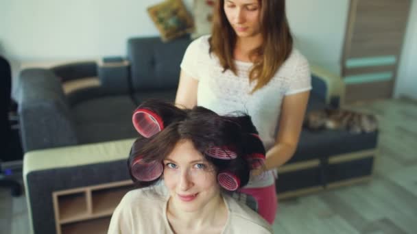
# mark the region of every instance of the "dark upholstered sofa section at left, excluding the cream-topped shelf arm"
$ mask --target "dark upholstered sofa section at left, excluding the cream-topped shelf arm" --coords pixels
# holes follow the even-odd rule
[[[144,99],[175,98],[189,38],[128,40],[127,61],[31,68],[19,77],[19,118],[25,152],[106,142],[135,135],[130,121]],[[100,86],[64,94],[62,83],[97,77]]]

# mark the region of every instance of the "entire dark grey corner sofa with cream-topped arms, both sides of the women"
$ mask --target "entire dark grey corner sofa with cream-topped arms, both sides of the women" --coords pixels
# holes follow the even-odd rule
[[[27,69],[20,75],[24,179],[34,233],[56,230],[51,192],[129,179],[131,114],[145,99],[174,101],[180,61],[191,40],[131,38],[126,59]],[[311,65],[308,110],[343,103],[344,84]],[[63,83],[98,77],[99,85],[65,93]],[[66,147],[64,147],[66,146]],[[278,168],[278,196],[370,179],[377,132],[302,129],[296,154]]]

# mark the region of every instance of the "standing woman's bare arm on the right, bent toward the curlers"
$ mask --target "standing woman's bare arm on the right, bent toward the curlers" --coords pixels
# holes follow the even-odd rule
[[[271,170],[281,166],[294,155],[300,138],[309,95],[310,92],[307,91],[284,97],[276,142],[266,153],[263,170]],[[256,170],[253,173],[257,175],[261,172],[262,170]]]

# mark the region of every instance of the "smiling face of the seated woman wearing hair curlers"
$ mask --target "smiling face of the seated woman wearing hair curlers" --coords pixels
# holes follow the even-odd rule
[[[164,181],[174,207],[198,211],[218,198],[216,172],[191,140],[180,140],[163,163]]]

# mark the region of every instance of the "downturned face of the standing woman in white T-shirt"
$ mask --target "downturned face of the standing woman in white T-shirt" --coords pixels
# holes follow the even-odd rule
[[[260,34],[259,0],[224,0],[224,13],[238,37],[252,37]]]

